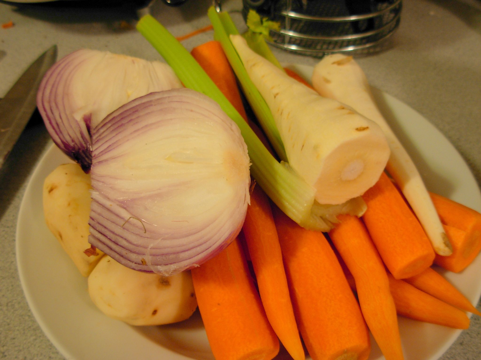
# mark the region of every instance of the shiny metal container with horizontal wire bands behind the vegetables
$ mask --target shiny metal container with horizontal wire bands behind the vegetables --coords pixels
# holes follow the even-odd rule
[[[386,47],[401,19],[401,0],[243,0],[280,23],[272,45],[310,56],[370,53]]]

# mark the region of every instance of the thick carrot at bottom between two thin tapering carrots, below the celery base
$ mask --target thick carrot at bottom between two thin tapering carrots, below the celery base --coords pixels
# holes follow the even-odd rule
[[[324,234],[274,209],[292,306],[313,360],[367,359],[367,325]]]

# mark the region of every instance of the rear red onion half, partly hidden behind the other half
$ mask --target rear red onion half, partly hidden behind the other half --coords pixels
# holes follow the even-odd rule
[[[130,100],[181,86],[165,63],[80,49],[45,74],[37,106],[54,143],[89,171],[96,124]]]

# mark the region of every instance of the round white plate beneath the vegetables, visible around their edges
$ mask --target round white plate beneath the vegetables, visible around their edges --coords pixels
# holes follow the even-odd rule
[[[295,67],[308,76],[312,68]],[[310,77],[306,77],[310,78]],[[441,132],[412,108],[374,89],[380,108],[413,156],[428,188],[481,211],[481,194],[468,166]],[[45,225],[42,185],[69,160],[53,145],[36,168],[22,201],[16,236],[17,263],[25,297],[42,330],[67,359],[213,360],[198,312],[166,326],[133,327],[112,320],[89,299],[79,275]],[[446,273],[473,304],[481,295],[481,256],[463,273]],[[459,330],[400,318],[406,360],[435,360]],[[288,359],[281,351],[278,359]],[[373,342],[370,360],[383,359]]]

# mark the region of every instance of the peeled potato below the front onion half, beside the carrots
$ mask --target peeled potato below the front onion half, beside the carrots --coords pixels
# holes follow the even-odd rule
[[[162,325],[188,319],[197,308],[190,271],[165,277],[132,270],[105,255],[89,276],[97,307],[131,325]]]

